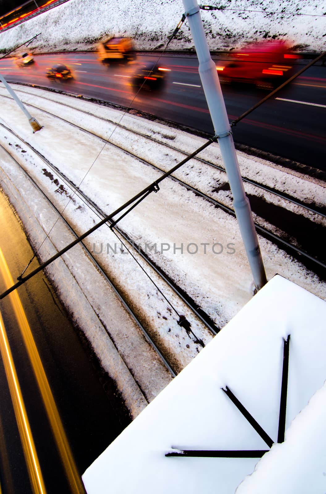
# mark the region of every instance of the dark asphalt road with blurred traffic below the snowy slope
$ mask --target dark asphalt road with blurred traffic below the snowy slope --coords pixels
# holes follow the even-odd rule
[[[157,60],[153,55],[138,55],[135,62],[110,66],[90,52],[38,55],[35,60],[34,66],[19,69],[12,59],[3,59],[0,74],[8,81],[62,89],[213,134],[195,57],[163,56],[160,64],[171,69],[164,88],[137,95],[130,78],[138,63]],[[47,68],[59,62],[72,69],[73,81],[47,80]],[[300,61],[297,70],[305,63]],[[222,91],[230,121],[268,93],[250,84],[222,84]],[[325,112],[326,67],[313,66],[233,127],[233,138],[236,143],[325,171]]]

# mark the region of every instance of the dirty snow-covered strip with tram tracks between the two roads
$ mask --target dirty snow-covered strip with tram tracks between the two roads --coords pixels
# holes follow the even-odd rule
[[[116,109],[79,98],[19,85],[12,87],[24,102],[34,103],[72,124],[93,131],[104,140],[110,136],[112,143],[145,159],[150,157],[153,164],[170,167],[180,160],[178,151],[170,151],[163,164],[160,142],[171,143],[173,139],[174,146],[186,152],[194,151],[203,143],[201,138],[186,132],[124,115]],[[81,184],[80,189],[105,213],[121,206],[159,176],[157,170],[112,144],[105,144],[98,137],[36,109],[32,110],[32,114],[44,128],[32,134],[26,117],[11,99],[3,97],[6,95],[1,87],[4,125],[10,126],[71,181]],[[75,109],[64,108],[58,102],[40,96],[65,102]],[[91,115],[79,112],[79,108]],[[117,122],[126,128],[115,128]],[[160,142],[152,143],[151,148],[148,148],[139,137],[135,140],[129,129],[140,130]],[[64,209],[64,217],[78,234],[98,222],[96,214],[73,195],[69,185],[61,177],[56,177],[44,161],[2,126],[0,143],[33,176],[53,204],[60,211]],[[12,158],[3,150],[0,153],[1,187],[21,217],[34,248],[39,249],[40,258],[46,260],[56,249],[67,245],[72,236],[61,221],[56,222],[57,215],[28,183]],[[218,145],[207,148],[202,157],[220,163]],[[285,188],[288,194],[302,201],[323,204],[325,187],[322,184],[314,184],[311,179],[307,181],[304,176],[293,176],[285,169],[271,168],[268,162],[250,159],[242,153],[239,153],[238,158],[245,176],[252,175],[256,180],[259,176],[267,185],[280,190]],[[216,183],[221,179],[218,170],[215,177],[211,174],[208,166],[202,165],[198,169],[198,165],[192,162],[178,172],[180,178],[188,183],[192,181],[201,188],[205,181],[215,180],[213,183]],[[236,220],[172,179],[162,182],[161,190],[149,196],[119,225],[142,248],[156,244],[157,253],[153,250],[150,252],[154,262],[196,301],[218,327],[229,322],[252,297],[252,277]],[[49,234],[50,240],[40,248],[46,234]],[[279,273],[321,298],[326,298],[326,284],[314,273],[307,271],[271,242],[263,238],[259,238],[259,242],[268,279]],[[135,259],[124,247],[121,249],[120,239],[107,226],[94,232],[85,243],[138,312],[170,361],[178,370],[183,369],[201,347],[196,338],[178,326],[178,317],[170,303],[179,314],[186,316],[194,334],[205,344],[212,338],[208,330],[134,252],[138,262],[167,300],[163,298]],[[182,244],[183,252],[180,248]],[[215,247],[215,253],[213,244],[222,246],[223,251],[218,254],[221,247]],[[228,244],[233,244],[234,253],[227,248]],[[198,246],[195,254],[191,253],[195,249],[194,245]],[[51,264],[48,274],[74,321],[84,330],[104,369],[117,381],[127,406],[136,416],[166,386],[171,376],[81,247],[74,247],[62,259]]]

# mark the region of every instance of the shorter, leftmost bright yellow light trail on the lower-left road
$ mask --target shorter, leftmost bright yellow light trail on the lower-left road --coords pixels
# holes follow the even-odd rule
[[[7,334],[4,328],[3,319],[0,313],[0,352],[3,361],[4,370],[7,376],[10,396],[13,409],[16,416],[19,435],[23,446],[28,474],[34,494],[46,494],[46,488],[42,477],[39,458],[31,433],[31,427],[28,421],[25,404],[23,401],[21,389],[19,386],[17,372],[13,363],[11,350]],[[0,490],[1,492],[1,490]]]

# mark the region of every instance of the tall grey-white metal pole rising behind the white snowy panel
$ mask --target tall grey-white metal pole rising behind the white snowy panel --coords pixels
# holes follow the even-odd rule
[[[225,107],[216,65],[211,58],[206,40],[199,6],[196,0],[183,0],[192,39],[199,61],[199,75],[203,85],[209,113],[218,136],[223,163],[228,175],[233,207],[238,220],[243,244],[246,249],[255,287],[266,283],[266,274],[261,256],[257,233],[252,218],[249,200],[245,195],[242,177],[236,158],[231,127]]]

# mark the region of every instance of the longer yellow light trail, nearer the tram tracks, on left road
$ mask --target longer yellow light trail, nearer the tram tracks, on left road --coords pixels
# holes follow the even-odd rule
[[[2,273],[6,288],[13,285],[13,279],[9,272],[8,265],[4,259],[0,248],[0,272]],[[35,377],[40,388],[42,399],[47,411],[47,416],[53,431],[53,436],[60,453],[66,476],[70,484],[70,489],[73,494],[85,493],[84,484],[79,476],[75,460],[73,458],[66,433],[61,422],[59,412],[54,402],[54,398],[47,380],[47,376],[41,362],[39,352],[37,350],[31,328],[28,324],[22,303],[20,301],[17,290],[14,290],[9,295],[17,322],[19,324],[25,346],[35,373]]]

